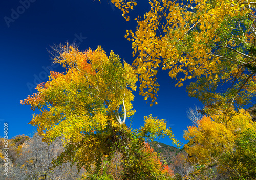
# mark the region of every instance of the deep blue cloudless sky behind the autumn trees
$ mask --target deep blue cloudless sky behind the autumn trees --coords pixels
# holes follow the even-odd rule
[[[52,64],[47,52],[50,45],[74,40],[80,44],[80,50],[89,47],[95,50],[101,45],[107,55],[113,50],[131,64],[132,45],[124,38],[125,30],[136,30],[137,22],[133,19],[150,8],[147,1],[137,4],[135,11],[130,12],[131,20],[126,22],[121,11],[107,0],[101,0],[101,3],[97,0],[1,1],[0,136],[4,136],[4,122],[9,124],[9,137],[30,135],[36,130],[28,124],[33,111],[30,106],[21,105],[20,100],[36,92],[35,84],[47,81],[46,69]],[[60,67],[52,68],[61,70]],[[194,104],[202,105],[197,99],[188,97],[184,86],[175,88],[167,71],[161,72],[158,79],[158,105],[150,107],[139,96],[139,91],[135,92],[133,104],[137,112],[133,117],[133,128],[143,125],[143,117],[152,114],[166,119],[176,138],[185,143],[183,130],[191,125],[186,111]],[[159,141],[172,145],[168,138]]]

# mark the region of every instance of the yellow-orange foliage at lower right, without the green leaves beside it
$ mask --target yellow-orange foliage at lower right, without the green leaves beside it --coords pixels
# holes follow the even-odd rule
[[[212,118],[204,116],[196,125],[189,126],[184,131],[185,140],[189,140],[185,145],[188,161],[204,165],[217,163],[224,153],[234,150],[234,143],[239,138],[237,131],[255,131],[256,125],[248,112],[243,109],[239,112],[227,119],[221,112]]]

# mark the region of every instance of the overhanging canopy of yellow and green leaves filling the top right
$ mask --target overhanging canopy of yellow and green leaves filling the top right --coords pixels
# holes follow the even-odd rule
[[[249,84],[254,71],[248,66],[254,67],[254,55],[246,47],[253,46],[254,42],[254,2],[163,0],[149,3],[151,10],[135,19],[137,30],[126,30],[125,37],[132,41],[140,94],[145,100],[151,98],[151,106],[157,104],[159,70],[168,70],[179,87],[193,77],[204,78],[204,83],[210,85],[216,85],[221,79],[233,80],[238,84],[232,86],[237,93],[241,92],[240,87]],[[247,70],[251,72],[247,74]],[[248,96],[253,94],[254,86],[252,89]],[[234,92],[229,95],[237,104],[248,100]]]

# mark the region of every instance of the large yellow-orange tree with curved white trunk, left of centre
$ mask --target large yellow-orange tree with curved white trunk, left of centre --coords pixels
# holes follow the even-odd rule
[[[137,167],[138,162],[132,159],[144,147],[145,138],[167,135],[177,144],[163,119],[145,117],[145,125],[133,131],[125,125],[135,113],[131,101],[137,76],[129,64],[122,65],[119,56],[113,52],[106,56],[100,46],[80,52],[67,44],[54,50],[55,63],[66,72],[52,71],[49,81],[39,84],[38,93],[22,104],[41,111],[33,115],[30,124],[37,126],[43,141],[63,138],[65,150],[54,160],[56,165],[72,161],[78,168],[90,170],[93,164],[100,170],[104,157],[111,160],[120,152],[126,162],[125,175],[130,176],[134,170],[129,167]]]

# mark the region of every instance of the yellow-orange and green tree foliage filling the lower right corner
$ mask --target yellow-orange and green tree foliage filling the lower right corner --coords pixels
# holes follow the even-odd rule
[[[232,117],[222,112],[212,119],[205,116],[184,131],[188,161],[201,167],[198,172],[217,166],[232,179],[255,179],[256,126],[246,111],[239,111]]]

